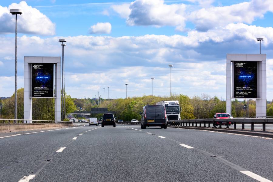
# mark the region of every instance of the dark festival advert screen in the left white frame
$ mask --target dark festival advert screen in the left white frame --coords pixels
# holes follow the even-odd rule
[[[54,64],[32,63],[32,97],[53,97]]]

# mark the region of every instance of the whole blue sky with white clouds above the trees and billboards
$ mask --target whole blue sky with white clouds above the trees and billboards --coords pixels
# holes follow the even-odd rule
[[[24,56],[61,56],[65,47],[66,91],[97,97],[110,86],[112,98],[172,91],[225,99],[227,53],[258,53],[265,38],[267,96],[273,99],[271,0],[27,0],[0,2],[0,96],[14,92],[14,16],[18,17],[18,85]]]

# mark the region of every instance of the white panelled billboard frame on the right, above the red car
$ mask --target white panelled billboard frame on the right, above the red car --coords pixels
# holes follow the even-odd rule
[[[233,61],[257,61],[256,117],[266,116],[266,54],[227,54],[227,113],[231,113],[231,99],[234,99]]]

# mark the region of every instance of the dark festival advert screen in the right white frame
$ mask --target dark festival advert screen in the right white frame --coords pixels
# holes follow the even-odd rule
[[[257,98],[257,61],[234,61],[234,97]]]

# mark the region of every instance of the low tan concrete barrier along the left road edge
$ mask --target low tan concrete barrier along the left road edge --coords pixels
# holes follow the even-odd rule
[[[72,123],[10,123],[0,124],[0,131],[12,131],[12,130],[28,130],[28,129],[41,129],[41,128],[54,128],[61,126],[72,126]]]

